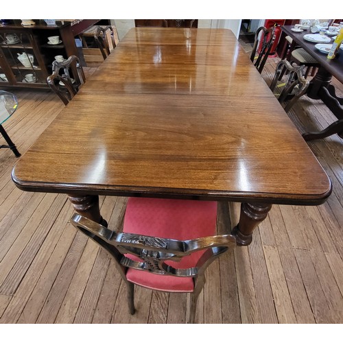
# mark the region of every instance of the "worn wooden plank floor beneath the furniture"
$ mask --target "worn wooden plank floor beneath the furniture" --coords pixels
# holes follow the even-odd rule
[[[267,84],[277,62],[269,58],[265,65]],[[333,83],[343,95],[342,84]],[[50,91],[12,91],[19,108],[4,127],[23,154],[64,105]],[[335,120],[306,96],[287,115],[300,133]],[[320,206],[274,205],[250,246],[235,248],[206,271],[196,322],[343,323],[343,139],[335,135],[308,145],[331,178],[329,200]],[[141,287],[131,316],[115,263],[69,223],[73,208],[67,197],[20,191],[10,178],[18,160],[1,149],[0,161],[0,323],[187,321],[189,295]],[[126,202],[100,197],[110,227],[122,227]],[[235,226],[239,204],[221,206],[230,209]],[[218,218],[218,230],[226,219]]]

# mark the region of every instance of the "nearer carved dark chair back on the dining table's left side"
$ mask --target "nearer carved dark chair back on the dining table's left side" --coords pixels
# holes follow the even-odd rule
[[[60,97],[64,105],[74,97],[82,84],[86,82],[84,71],[77,56],[70,56],[64,62],[52,63],[52,74],[47,84]]]

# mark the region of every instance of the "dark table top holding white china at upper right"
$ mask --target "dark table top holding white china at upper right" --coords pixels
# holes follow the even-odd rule
[[[305,51],[315,58],[317,62],[324,67],[324,69],[327,69],[331,75],[343,83],[343,51],[339,51],[333,60],[329,60],[327,58],[327,54],[323,54],[315,47],[317,43],[312,43],[304,39],[305,34],[311,34],[309,29],[304,30],[303,32],[294,32],[292,31],[292,27],[294,26],[285,25],[282,26],[281,29],[285,32],[285,34],[292,37],[297,45],[305,49]],[[328,37],[331,40],[326,44],[332,44],[333,38],[330,36]]]

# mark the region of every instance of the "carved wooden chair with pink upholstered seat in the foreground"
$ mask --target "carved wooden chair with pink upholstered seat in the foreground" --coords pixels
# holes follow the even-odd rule
[[[134,284],[164,292],[191,293],[188,322],[211,262],[236,245],[232,235],[216,234],[217,202],[129,198],[123,232],[74,214],[71,223],[105,248],[126,281],[134,314]]]

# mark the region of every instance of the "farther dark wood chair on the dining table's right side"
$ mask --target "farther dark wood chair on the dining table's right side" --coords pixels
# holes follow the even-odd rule
[[[261,26],[257,29],[250,60],[255,65],[259,73],[262,72],[270,50],[272,49],[274,36],[274,27],[266,29],[264,26]]]

